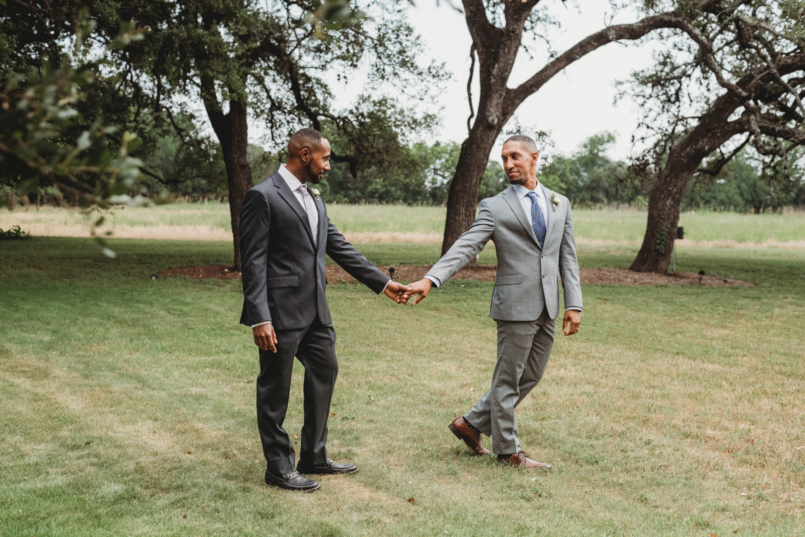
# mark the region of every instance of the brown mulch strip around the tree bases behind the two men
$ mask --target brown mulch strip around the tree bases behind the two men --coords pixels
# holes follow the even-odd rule
[[[388,274],[390,267],[378,267]],[[427,264],[401,264],[394,267],[394,280],[410,283],[421,280],[431,268]],[[495,281],[494,265],[479,265],[473,268],[462,268],[454,279]],[[748,281],[732,280],[720,276],[696,273],[633,273],[628,268],[580,268],[583,284],[592,285],[708,285],[725,287],[733,285],[754,285]],[[166,268],[157,272],[159,276],[185,276],[196,279],[217,278],[219,280],[237,280],[241,273],[225,265],[203,265],[199,267]],[[327,267],[327,281],[331,284],[354,283],[353,277],[337,266]]]

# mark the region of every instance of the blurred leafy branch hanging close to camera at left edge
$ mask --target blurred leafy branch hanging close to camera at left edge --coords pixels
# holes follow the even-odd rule
[[[76,51],[93,27],[85,16],[80,17]],[[109,47],[121,48],[138,35],[126,26]],[[100,118],[86,125],[78,111],[93,84],[114,80],[102,78],[105,63],[87,62],[81,56],[71,61],[62,55],[58,67],[45,60],[38,72],[18,73],[6,80],[0,93],[0,174],[16,179],[20,195],[35,191],[43,180],[97,209],[145,201],[129,195],[142,166],[130,156],[139,145],[137,135],[114,136],[118,127],[103,125]],[[102,216],[95,219],[91,234],[107,256],[114,256],[97,236],[103,222]]]

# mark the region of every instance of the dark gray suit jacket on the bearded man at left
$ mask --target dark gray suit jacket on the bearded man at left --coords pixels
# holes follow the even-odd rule
[[[332,225],[324,201],[314,202],[319,210],[317,237],[279,172],[246,194],[241,211],[241,324],[270,321],[275,330],[303,328],[316,314],[323,324],[332,322],[324,296],[325,252],[375,293],[390,280]]]

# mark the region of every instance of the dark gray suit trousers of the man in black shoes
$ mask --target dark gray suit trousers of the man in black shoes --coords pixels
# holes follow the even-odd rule
[[[304,366],[304,425],[299,461],[305,465],[327,462],[327,419],[336,385],[336,331],[316,316],[309,326],[276,330],[277,352],[260,350],[257,378],[257,423],[268,471],[274,475],[295,469],[291,437],[283,428],[291,395],[294,356]]]

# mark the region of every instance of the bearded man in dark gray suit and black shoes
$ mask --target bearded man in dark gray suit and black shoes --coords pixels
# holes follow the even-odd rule
[[[330,145],[322,133],[301,129],[288,142],[288,162],[253,187],[241,212],[243,313],[260,347],[257,419],[266,457],[266,484],[312,491],[318,482],[300,473],[357,472],[327,457],[327,419],[336,384],[336,332],[324,285],[324,253],[357,281],[398,303],[410,289],[369,263],[332,225],[317,184],[330,169]],[[305,368],[304,425],[299,465],[283,421],[294,356]]]

